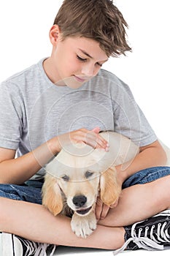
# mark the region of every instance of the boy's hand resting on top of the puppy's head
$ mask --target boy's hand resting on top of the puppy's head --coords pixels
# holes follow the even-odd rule
[[[104,150],[108,151],[109,145],[107,140],[101,137],[99,130],[98,127],[93,130],[82,128],[60,135],[58,136],[59,148],[61,150],[64,145],[69,143],[86,143],[93,148],[104,148]]]

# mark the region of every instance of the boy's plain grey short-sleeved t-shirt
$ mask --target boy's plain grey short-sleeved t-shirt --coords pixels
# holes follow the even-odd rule
[[[16,149],[20,157],[56,135],[82,127],[111,130],[146,146],[157,137],[131,90],[111,72],[101,69],[80,89],[57,86],[37,64],[0,86],[0,147]],[[32,178],[42,178],[42,168]]]

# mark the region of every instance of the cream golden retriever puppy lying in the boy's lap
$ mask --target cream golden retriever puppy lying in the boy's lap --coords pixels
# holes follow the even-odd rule
[[[111,206],[120,197],[115,165],[133,160],[139,147],[116,132],[101,132],[109,151],[84,143],[63,147],[46,165],[42,204],[55,216],[72,217],[72,230],[85,238],[96,229],[96,198]]]

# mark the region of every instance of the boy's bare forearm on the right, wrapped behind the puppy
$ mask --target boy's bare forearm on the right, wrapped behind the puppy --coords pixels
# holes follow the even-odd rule
[[[139,170],[144,170],[149,167],[166,165],[166,152],[161,144],[156,140],[147,146],[140,148],[139,154],[132,162],[127,162],[124,165],[117,165],[117,175],[121,183],[132,176]]]

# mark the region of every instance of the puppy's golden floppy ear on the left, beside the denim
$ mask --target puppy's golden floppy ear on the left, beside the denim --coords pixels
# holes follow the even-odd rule
[[[45,183],[42,187],[42,204],[47,207],[53,215],[59,214],[63,208],[61,189],[57,184],[56,178],[49,174],[45,176]]]

